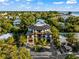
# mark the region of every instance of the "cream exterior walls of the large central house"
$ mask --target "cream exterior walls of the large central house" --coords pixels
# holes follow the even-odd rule
[[[30,31],[31,29],[28,28],[28,31]],[[47,30],[41,30],[40,32],[38,32],[37,30],[32,30],[32,35],[31,35],[31,39],[33,40],[33,42],[29,42],[29,39],[30,39],[30,35],[27,36],[27,44],[29,45],[34,45],[34,39],[37,37],[38,38],[38,35],[41,35],[41,37],[39,37],[39,39],[41,38],[47,38],[47,35],[45,35],[47,32],[50,32],[50,29],[47,29]],[[45,36],[45,37],[44,37]],[[49,37],[51,38],[52,35],[49,35]]]

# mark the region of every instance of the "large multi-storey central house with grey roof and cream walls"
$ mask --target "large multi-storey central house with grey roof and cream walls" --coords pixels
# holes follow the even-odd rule
[[[47,39],[51,38],[50,26],[44,20],[38,19],[36,24],[30,25],[27,32],[27,44],[34,45],[34,39]]]

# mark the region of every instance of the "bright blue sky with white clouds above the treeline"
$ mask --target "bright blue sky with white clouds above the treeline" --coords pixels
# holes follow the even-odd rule
[[[0,0],[0,11],[79,11],[79,0]]]

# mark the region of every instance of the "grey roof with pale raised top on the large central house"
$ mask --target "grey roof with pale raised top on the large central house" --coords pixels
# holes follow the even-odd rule
[[[50,26],[46,24],[44,20],[38,19],[36,21],[36,24],[30,25],[29,28],[33,30],[46,30],[46,29],[50,29]]]

